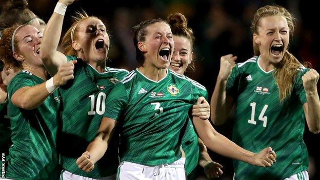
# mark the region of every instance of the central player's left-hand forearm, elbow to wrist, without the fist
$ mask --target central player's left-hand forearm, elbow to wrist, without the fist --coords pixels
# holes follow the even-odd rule
[[[87,147],[87,151],[91,156],[91,162],[93,164],[99,161],[108,149],[108,143],[103,139],[104,135],[105,134],[103,132],[99,133]]]

